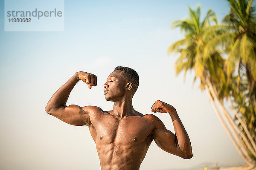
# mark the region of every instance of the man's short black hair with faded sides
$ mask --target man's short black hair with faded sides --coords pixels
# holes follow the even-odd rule
[[[139,87],[139,75],[137,72],[128,67],[123,67],[123,66],[117,66],[114,71],[119,70],[122,71],[123,74],[125,74],[126,78],[128,81],[131,81],[134,87],[134,93],[137,91]]]

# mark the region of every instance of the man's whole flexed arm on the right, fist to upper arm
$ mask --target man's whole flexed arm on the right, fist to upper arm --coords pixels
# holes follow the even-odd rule
[[[183,159],[192,158],[193,154],[189,136],[180,121],[176,109],[172,105],[160,100],[154,102],[151,109],[154,113],[169,113],[175,129],[175,134],[173,134],[170,130],[167,130],[163,122],[156,117],[154,119],[155,129],[152,132],[156,144],[166,152],[180,156]]]

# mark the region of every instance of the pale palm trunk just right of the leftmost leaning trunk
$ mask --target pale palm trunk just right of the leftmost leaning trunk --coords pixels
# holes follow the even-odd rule
[[[241,147],[241,150],[243,150],[244,155],[246,156],[247,160],[250,162],[249,165],[253,165],[256,164],[256,162],[250,157],[249,152],[247,150],[247,147],[245,146],[243,140],[241,139],[241,137],[237,134],[235,128],[233,127],[233,125],[236,126],[235,122],[233,121],[233,119],[230,117],[229,113],[227,113],[226,109],[224,108],[223,104],[221,103],[221,101],[218,99],[217,93],[214,90],[214,88],[212,87],[211,82],[209,82],[209,80],[207,81],[207,84],[209,85],[209,88],[211,89],[212,92],[212,96],[214,98],[214,100],[218,103],[218,105],[221,108],[222,113],[224,114],[224,117],[227,119],[227,124],[229,125],[231,131],[233,132],[233,134],[235,135],[236,141],[238,142],[239,146]],[[229,115],[229,116],[228,116]],[[230,119],[231,118],[231,119]],[[232,123],[233,122],[233,123]],[[233,125],[232,125],[233,124]]]

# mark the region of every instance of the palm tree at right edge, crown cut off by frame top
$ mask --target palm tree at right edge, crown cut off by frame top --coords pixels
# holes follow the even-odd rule
[[[205,48],[205,55],[218,46],[227,54],[225,71],[229,80],[236,84],[229,90],[239,128],[250,144],[249,152],[256,152],[256,7],[254,0],[227,0],[230,12],[223,22],[226,25],[212,28],[217,34]],[[232,78],[231,78],[232,77]],[[240,83],[242,82],[242,83]],[[252,158],[256,160],[255,154]]]

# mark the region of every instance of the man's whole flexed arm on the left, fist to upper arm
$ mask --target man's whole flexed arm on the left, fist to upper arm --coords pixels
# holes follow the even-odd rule
[[[70,125],[82,126],[90,124],[90,106],[81,108],[78,105],[67,106],[70,92],[79,80],[87,83],[88,87],[97,85],[97,77],[84,71],[76,72],[64,85],[61,86],[49,99],[45,111]]]

